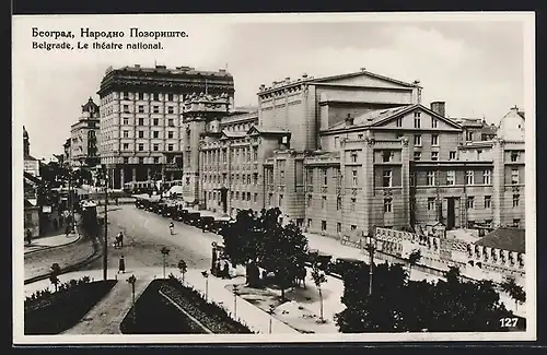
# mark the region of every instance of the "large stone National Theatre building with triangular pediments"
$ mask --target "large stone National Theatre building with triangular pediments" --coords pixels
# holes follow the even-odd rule
[[[422,106],[421,90],[365,70],[261,85],[257,113],[224,117],[202,135],[196,199],[231,215],[278,206],[331,236],[438,223],[523,227],[523,139],[450,119],[443,102]]]

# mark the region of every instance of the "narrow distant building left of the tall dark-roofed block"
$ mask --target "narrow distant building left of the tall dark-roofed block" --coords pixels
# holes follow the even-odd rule
[[[89,98],[85,105],[82,105],[82,116],[70,127],[70,164],[78,166],[96,166],[98,161],[97,154],[97,133],[100,123],[100,109]]]

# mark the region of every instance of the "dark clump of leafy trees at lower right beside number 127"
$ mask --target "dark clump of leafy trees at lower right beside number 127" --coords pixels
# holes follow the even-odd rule
[[[342,303],[336,317],[341,332],[476,332],[502,331],[500,318],[511,312],[500,303],[491,281],[462,282],[452,268],[446,281],[414,282],[401,265],[375,268],[372,295],[366,295],[368,265],[345,275]]]

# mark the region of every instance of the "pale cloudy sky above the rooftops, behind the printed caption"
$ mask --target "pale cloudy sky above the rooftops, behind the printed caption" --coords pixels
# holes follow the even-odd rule
[[[72,31],[74,45],[93,42],[80,38],[81,27],[126,33],[104,42],[140,40],[128,38],[130,27],[185,31],[188,38],[163,39],[159,51],[46,51],[33,49],[32,43],[51,38],[32,37],[32,27]],[[31,154],[48,159],[62,152],[81,105],[90,96],[98,103],[96,91],[109,66],[156,63],[228,68],[236,106],[257,105],[261,83],[366,68],[405,82],[419,80],[422,104],[444,100],[449,117],[497,123],[511,107],[525,104],[524,48],[523,17],[516,15],[15,16],[14,122],[26,127]]]

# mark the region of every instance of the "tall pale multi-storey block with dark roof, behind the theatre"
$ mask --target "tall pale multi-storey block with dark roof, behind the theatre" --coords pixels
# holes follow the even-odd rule
[[[225,70],[165,66],[109,68],[101,82],[101,164],[109,184],[182,178],[187,134],[185,100],[193,94],[224,94],[233,105],[234,82]],[[190,129],[191,132],[191,129]]]

